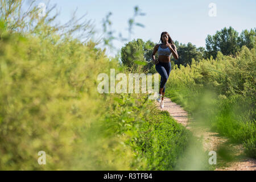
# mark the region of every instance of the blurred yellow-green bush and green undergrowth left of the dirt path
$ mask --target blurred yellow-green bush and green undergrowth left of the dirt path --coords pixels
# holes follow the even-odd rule
[[[118,60],[93,42],[25,37],[0,24],[0,169],[175,168],[188,143],[183,126],[146,94],[97,92],[99,73],[129,73]]]

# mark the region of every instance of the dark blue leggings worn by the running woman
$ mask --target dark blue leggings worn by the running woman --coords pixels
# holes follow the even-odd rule
[[[166,92],[166,82],[170,75],[171,68],[171,62],[162,63],[159,61],[159,63],[155,65],[156,71],[161,75],[160,88],[163,88],[163,93]]]

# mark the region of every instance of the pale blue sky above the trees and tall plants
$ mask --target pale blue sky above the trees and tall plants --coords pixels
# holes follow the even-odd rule
[[[47,2],[47,1],[39,1]],[[60,10],[58,20],[62,23],[71,18],[73,11],[77,10],[77,16],[84,15],[91,19],[98,32],[102,33],[102,19],[112,12],[110,20],[115,36],[121,32],[128,36],[128,19],[134,14],[134,7],[139,6],[145,16],[138,16],[135,21],[144,24],[142,27],[134,27],[131,39],[141,38],[144,41],[159,42],[160,34],[167,31],[173,40],[187,44],[191,42],[197,47],[205,47],[205,38],[208,34],[213,35],[217,30],[232,26],[236,31],[255,27],[256,1],[255,0],[51,0],[51,4],[57,4]],[[216,4],[216,16],[209,16],[209,4]],[[117,49],[125,43],[113,42]],[[114,55],[116,52],[107,52]]]

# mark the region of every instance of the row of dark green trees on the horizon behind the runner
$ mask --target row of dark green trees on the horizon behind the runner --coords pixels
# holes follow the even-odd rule
[[[243,30],[240,34],[231,26],[222,28],[214,35],[208,35],[205,39],[205,48],[196,47],[192,43],[182,44],[177,40],[175,46],[179,59],[175,60],[171,57],[171,64],[184,65],[184,67],[192,64],[192,59],[200,61],[201,59],[216,59],[217,52],[220,51],[223,55],[236,57],[236,53],[241,50],[242,46],[253,48],[256,42],[256,28]],[[153,63],[151,62],[151,53],[156,43],[142,39],[133,39],[125,44],[121,49],[121,63],[126,65],[131,70],[142,69],[143,72],[156,73]],[[158,55],[156,54],[156,59]]]

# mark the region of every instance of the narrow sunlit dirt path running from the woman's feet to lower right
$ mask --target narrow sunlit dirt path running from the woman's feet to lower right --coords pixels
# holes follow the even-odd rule
[[[242,153],[242,145],[230,143],[228,138],[219,136],[218,133],[214,133],[209,130],[208,127],[199,126],[191,118],[191,116],[180,105],[175,104],[170,98],[164,98],[164,108],[161,109],[159,103],[155,101],[156,106],[160,110],[166,110],[170,115],[179,123],[191,130],[196,137],[203,137],[204,150],[219,151],[218,154],[222,155],[218,158],[221,166],[216,166],[217,171],[256,171],[256,160],[245,157]]]

